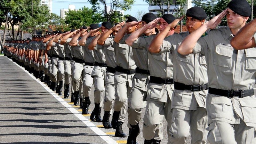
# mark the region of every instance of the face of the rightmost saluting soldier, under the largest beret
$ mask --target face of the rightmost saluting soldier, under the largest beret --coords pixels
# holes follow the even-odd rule
[[[249,17],[244,17],[228,8],[227,23],[230,29],[241,29]]]

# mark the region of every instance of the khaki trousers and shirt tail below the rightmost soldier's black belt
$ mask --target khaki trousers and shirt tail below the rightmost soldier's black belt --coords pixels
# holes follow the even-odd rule
[[[252,126],[247,126],[240,117],[242,116],[246,121],[255,118],[251,117],[255,116],[255,111],[253,110],[255,109],[255,103],[252,104],[254,101],[254,95],[244,98],[233,97],[230,100],[228,97],[208,94],[206,97],[209,124],[208,141],[211,144],[255,144],[254,124],[248,123],[252,124]],[[237,109],[239,105],[240,109]],[[254,106],[251,107],[252,105]]]

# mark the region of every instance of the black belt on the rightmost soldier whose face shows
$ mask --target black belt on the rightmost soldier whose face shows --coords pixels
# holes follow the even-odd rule
[[[253,91],[253,89],[239,90],[239,91],[221,90],[221,89],[215,89],[215,88],[209,87],[209,93],[224,96],[224,97],[228,97],[228,98],[233,98],[233,97],[243,98],[243,97],[253,95],[254,91]]]

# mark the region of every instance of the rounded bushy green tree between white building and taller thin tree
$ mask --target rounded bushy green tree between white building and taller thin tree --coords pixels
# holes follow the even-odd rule
[[[70,28],[80,28],[83,25],[89,26],[92,23],[99,23],[103,18],[92,9],[83,7],[77,11],[69,10],[66,13],[65,22]]]

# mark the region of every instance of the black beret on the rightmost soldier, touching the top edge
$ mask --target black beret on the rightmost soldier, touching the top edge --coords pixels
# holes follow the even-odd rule
[[[249,17],[251,15],[251,6],[246,0],[232,0],[227,7],[241,16]]]

